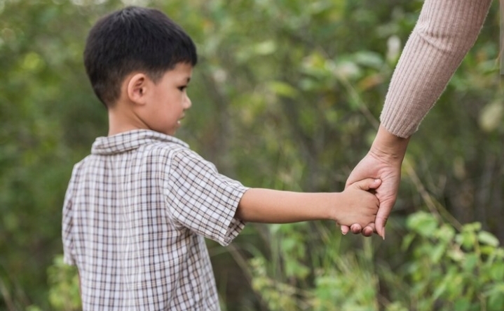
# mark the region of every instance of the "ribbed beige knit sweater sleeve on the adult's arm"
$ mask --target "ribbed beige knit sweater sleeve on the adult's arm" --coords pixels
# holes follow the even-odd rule
[[[413,134],[474,45],[491,0],[425,0],[395,68],[381,124]]]

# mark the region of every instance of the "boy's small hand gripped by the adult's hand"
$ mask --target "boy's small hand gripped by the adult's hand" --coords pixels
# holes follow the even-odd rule
[[[380,206],[379,200],[369,190],[381,185],[381,180],[367,178],[353,183],[341,192],[341,202],[336,210],[338,225],[359,224],[365,227],[373,223]]]

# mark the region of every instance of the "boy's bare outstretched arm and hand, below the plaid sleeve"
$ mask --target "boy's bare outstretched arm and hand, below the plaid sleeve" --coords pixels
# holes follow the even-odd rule
[[[236,218],[252,223],[296,223],[308,220],[334,220],[339,225],[372,223],[379,201],[368,190],[381,180],[365,179],[343,192],[289,192],[252,188],[243,194]]]

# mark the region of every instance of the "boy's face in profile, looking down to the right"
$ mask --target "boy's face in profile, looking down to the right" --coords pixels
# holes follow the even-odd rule
[[[151,81],[151,91],[146,94],[149,112],[145,120],[151,130],[173,135],[180,127],[184,112],[191,107],[186,89],[192,71],[191,64],[179,62],[173,70],[165,72],[158,83]]]

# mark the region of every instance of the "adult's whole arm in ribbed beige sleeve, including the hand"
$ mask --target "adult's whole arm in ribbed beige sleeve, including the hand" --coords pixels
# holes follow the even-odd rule
[[[400,165],[409,138],[446,88],[474,45],[491,0],[425,0],[416,26],[390,81],[381,126],[372,149],[354,168],[347,186],[363,178],[380,178],[376,223],[362,230],[385,237],[385,224],[400,183]],[[376,228],[375,228],[376,224]],[[353,225],[352,232],[361,232]],[[343,233],[349,227],[341,226]]]

